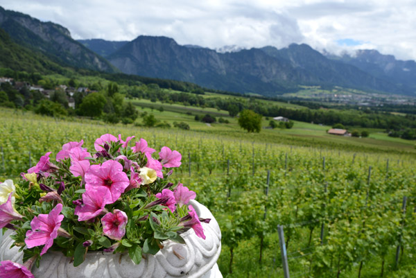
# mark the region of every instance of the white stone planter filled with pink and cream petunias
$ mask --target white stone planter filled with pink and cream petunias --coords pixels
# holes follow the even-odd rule
[[[1,278],[221,277],[218,223],[170,180],[182,156],[134,138],[69,142],[0,184]]]

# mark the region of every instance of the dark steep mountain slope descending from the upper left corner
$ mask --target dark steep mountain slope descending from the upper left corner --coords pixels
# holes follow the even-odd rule
[[[68,29],[58,24],[0,7],[0,27],[18,44],[42,51],[56,62],[71,67],[116,71],[107,60],[73,40]]]

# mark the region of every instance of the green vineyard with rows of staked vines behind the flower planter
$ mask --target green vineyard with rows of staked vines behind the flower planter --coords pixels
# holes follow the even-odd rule
[[[196,191],[223,234],[224,277],[416,277],[414,155],[360,153],[205,132],[0,112],[0,180],[17,180],[68,141],[135,135],[182,153],[173,177]],[[261,136],[261,134],[260,134]],[[52,155],[52,156],[53,156]],[[283,262],[282,262],[283,261]]]

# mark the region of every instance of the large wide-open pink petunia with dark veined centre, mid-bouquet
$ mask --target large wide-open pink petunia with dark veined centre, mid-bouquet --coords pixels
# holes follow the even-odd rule
[[[90,166],[85,173],[85,182],[92,187],[103,186],[110,191],[111,198],[107,200],[107,204],[116,202],[130,184],[127,174],[123,172],[123,166],[114,160],[107,160],[101,166]]]

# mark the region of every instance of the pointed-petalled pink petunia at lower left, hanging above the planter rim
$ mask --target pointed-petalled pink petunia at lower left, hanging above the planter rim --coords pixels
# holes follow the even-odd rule
[[[40,255],[48,251],[53,245],[53,240],[58,236],[69,237],[70,235],[60,227],[64,216],[60,214],[62,211],[62,204],[56,205],[49,214],[39,214],[32,219],[31,230],[26,232],[26,239],[24,242],[28,248],[44,245]]]

